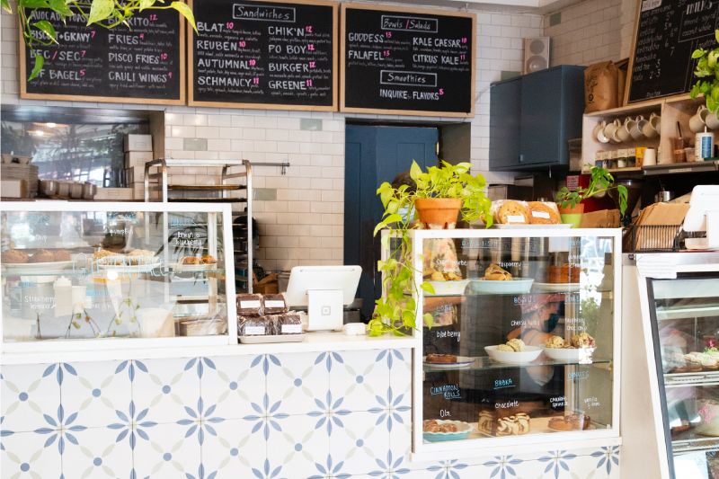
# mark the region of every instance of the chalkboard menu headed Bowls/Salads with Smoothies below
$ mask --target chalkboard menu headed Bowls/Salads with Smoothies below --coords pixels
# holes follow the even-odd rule
[[[341,111],[471,117],[475,15],[342,4]]]

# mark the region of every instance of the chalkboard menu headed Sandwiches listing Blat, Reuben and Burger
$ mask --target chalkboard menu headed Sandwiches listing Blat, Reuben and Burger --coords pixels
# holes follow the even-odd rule
[[[337,4],[194,0],[190,105],[336,111]]]

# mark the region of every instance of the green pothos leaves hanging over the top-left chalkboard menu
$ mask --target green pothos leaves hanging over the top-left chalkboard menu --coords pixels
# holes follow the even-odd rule
[[[7,13],[13,13],[10,0],[0,0]],[[17,16],[22,31],[22,40],[29,49],[33,47],[48,47],[58,44],[58,32],[49,20],[39,18],[36,13],[50,11],[53,17],[61,22],[74,15],[80,15],[85,24],[98,25],[112,29],[120,25],[130,28],[129,19],[136,13],[145,10],[177,10],[190,22],[192,29],[197,31],[195,17],[192,9],[183,1],[166,0],[17,0]],[[45,64],[45,58],[40,52],[35,52],[34,64],[28,81],[40,74]]]

